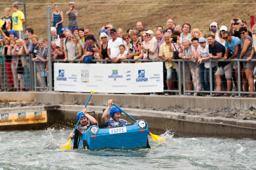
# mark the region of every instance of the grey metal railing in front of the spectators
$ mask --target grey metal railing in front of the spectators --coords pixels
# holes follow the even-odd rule
[[[8,55],[9,56],[9,55]],[[21,56],[21,55],[15,55],[15,56]],[[25,55],[27,56],[27,55]],[[48,82],[48,85],[47,87],[42,87],[42,86],[37,86],[36,82],[37,82],[37,70],[36,70],[36,63],[37,62],[42,62],[40,60],[35,60],[34,62],[32,61],[32,58],[34,57],[33,54],[29,54],[29,68],[30,68],[30,71],[29,71],[29,77],[30,77],[30,90],[31,91],[34,91],[34,90],[38,90],[38,89],[45,89],[45,88],[49,88],[49,84],[52,82],[52,80],[49,80],[48,77],[49,76],[46,76],[47,77],[47,82]],[[4,56],[4,90],[7,91],[7,74],[6,74],[6,56]],[[47,62],[47,60],[45,60]],[[63,60],[61,59],[58,59],[58,60],[51,60],[52,62],[63,62]],[[100,61],[101,63],[110,63],[111,60],[95,60],[93,59],[92,62],[97,62],[97,61]],[[139,59],[139,60],[134,60],[134,59],[125,59],[125,60],[120,60],[120,61],[125,61],[125,62],[128,62],[128,63],[131,63],[131,62],[135,62],[135,61],[141,61],[141,62],[157,62],[156,60],[150,60],[150,59]],[[162,60],[160,59],[159,61],[163,61],[165,62],[165,60]],[[210,64],[210,68],[209,68],[209,84],[210,84],[210,91],[206,91],[206,90],[186,90],[186,80],[185,80],[185,69],[182,69],[183,72],[181,72],[181,66],[183,68],[185,68],[185,62],[192,62],[192,60],[183,60],[183,59],[178,59],[178,60],[175,60],[173,59],[172,60],[173,62],[178,62],[178,68],[176,68],[176,71],[178,72],[178,90],[164,90],[164,92],[178,92],[178,95],[186,95],[186,93],[209,93],[210,96],[212,96],[213,93],[232,93],[232,94],[238,94],[238,97],[241,96],[241,94],[256,94],[256,92],[248,92],[248,91],[241,91],[241,73],[240,73],[240,70],[241,70],[241,67],[240,67],[240,62],[247,62],[246,59],[228,59],[228,60],[222,60],[222,59],[219,59],[219,60],[214,60],[214,59],[211,59],[211,60],[208,60],[209,61],[209,64]],[[221,61],[221,62],[237,62],[237,66],[238,66],[238,91],[214,91],[213,89],[213,85],[212,85],[212,82],[214,80],[212,80],[212,62],[213,61]],[[252,62],[255,62],[256,59],[251,59],[250,61]],[[67,62],[71,62],[70,60],[68,60]],[[74,63],[83,63],[81,62],[79,59],[76,59],[74,60]],[[52,71],[53,70],[48,70],[48,75],[49,74],[52,74]],[[40,73],[42,75],[42,73]],[[183,94],[182,94],[182,81],[179,81],[181,80],[181,75],[183,75]],[[43,76],[41,76],[43,77]],[[45,78],[45,77],[43,77]],[[53,77],[52,77],[53,79]],[[52,88],[54,88],[52,86]]]

